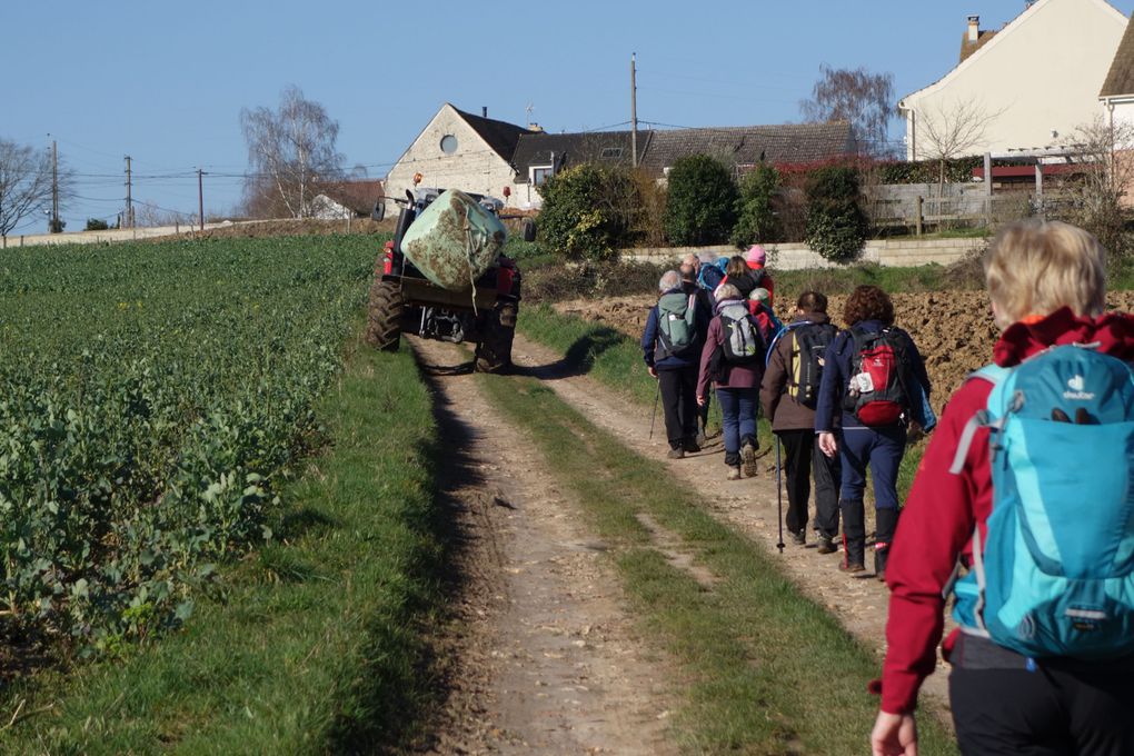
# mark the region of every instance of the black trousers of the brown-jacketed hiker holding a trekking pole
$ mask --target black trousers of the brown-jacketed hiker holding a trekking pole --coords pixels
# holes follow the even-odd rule
[[[784,444],[784,478],[787,487],[787,529],[798,533],[807,526],[811,477],[815,478],[815,529],[833,538],[839,533],[839,457],[819,450],[819,436],[811,428],[777,431]]]

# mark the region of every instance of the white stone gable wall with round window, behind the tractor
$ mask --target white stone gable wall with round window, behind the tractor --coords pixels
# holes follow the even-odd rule
[[[457,137],[457,151],[446,154],[441,150],[441,138]],[[516,207],[517,187],[515,172],[481,136],[457,114],[452,105],[446,104],[438,111],[429,126],[390,169],[386,179],[387,215],[397,216],[398,207],[389,197],[405,197],[406,189],[414,188],[414,173],[422,175],[424,187],[462,189],[486,194],[503,199],[503,187],[511,189],[507,204]]]

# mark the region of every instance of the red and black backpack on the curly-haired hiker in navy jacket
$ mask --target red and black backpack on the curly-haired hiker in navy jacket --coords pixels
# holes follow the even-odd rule
[[[897,328],[877,333],[852,328],[854,352],[844,407],[866,426],[894,425],[909,406],[906,391],[906,341]]]

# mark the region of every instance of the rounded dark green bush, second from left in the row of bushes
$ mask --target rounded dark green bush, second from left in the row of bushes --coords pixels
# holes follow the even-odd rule
[[[669,170],[666,235],[672,245],[727,241],[739,192],[728,168],[709,155],[682,158]]]

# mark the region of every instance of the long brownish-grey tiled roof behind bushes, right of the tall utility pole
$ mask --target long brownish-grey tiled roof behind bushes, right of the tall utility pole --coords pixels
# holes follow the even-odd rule
[[[654,131],[642,167],[660,177],[675,161],[693,154],[753,165],[761,160],[773,164],[820,162],[855,152],[854,135],[845,121],[688,128]]]

